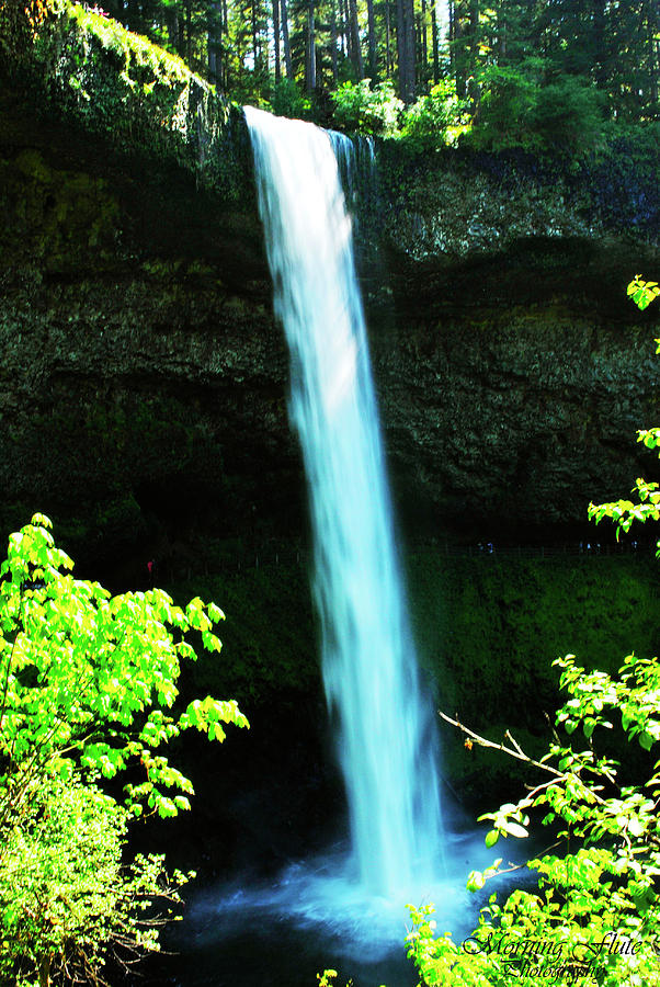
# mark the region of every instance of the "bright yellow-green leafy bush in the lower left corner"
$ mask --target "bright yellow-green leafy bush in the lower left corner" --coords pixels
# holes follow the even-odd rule
[[[220,649],[218,606],[76,580],[50,526],[36,514],[0,567],[0,969],[42,984],[71,966],[95,983],[111,945],[158,943],[140,910],[171,894],[162,860],[124,870],[122,848],[145,809],[190,808],[192,784],[162,747],[190,728],[221,741],[224,724],[248,722],[212,696],[173,708],[181,662],[196,658],[190,634]],[[128,768],[122,804],[99,782]]]

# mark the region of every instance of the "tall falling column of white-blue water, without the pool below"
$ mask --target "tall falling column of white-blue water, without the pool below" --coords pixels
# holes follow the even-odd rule
[[[346,786],[351,860],[369,894],[394,898],[437,873],[441,815],[351,218],[327,132],[252,107],[246,117],[275,313],[291,351],[289,415],[309,488],[323,682]]]

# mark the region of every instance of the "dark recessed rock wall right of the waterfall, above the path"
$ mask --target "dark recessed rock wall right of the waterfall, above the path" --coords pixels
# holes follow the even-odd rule
[[[660,420],[658,316],[625,297],[639,254],[530,239],[453,265],[395,259],[395,316],[374,351],[399,499],[418,523],[513,538],[582,525],[590,500],[655,476],[636,430]]]

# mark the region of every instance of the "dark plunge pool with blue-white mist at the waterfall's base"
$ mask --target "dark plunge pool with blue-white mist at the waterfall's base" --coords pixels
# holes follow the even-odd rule
[[[500,851],[522,854],[524,841]],[[511,855],[511,854],[510,854]],[[505,878],[480,894],[466,890],[471,870],[492,863],[493,850],[474,832],[447,839],[447,876],[402,890],[395,899],[369,895],[353,878],[351,858],[338,847],[292,863],[273,881],[236,877],[187,897],[183,921],[168,935],[158,984],[175,987],[315,987],[316,974],[339,971],[338,987],[414,987],[406,957],[407,904],[435,906],[437,934],[460,943],[475,928],[479,908]],[[519,875],[520,878],[520,873]]]

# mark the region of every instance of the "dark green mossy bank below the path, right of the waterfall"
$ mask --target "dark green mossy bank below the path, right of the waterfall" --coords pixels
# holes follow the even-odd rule
[[[614,672],[626,650],[650,654],[656,575],[645,553],[519,559],[418,549],[407,581],[420,660],[443,683],[445,708],[466,719],[478,708],[488,738],[514,728],[526,749],[542,753],[544,713],[558,700],[551,661],[574,649],[588,668]],[[443,739],[443,758],[479,808],[517,772],[514,762],[493,763],[477,746],[467,750],[454,730]]]

